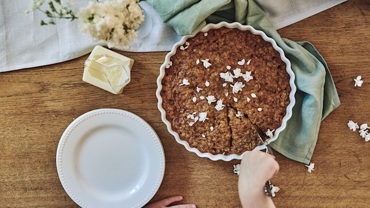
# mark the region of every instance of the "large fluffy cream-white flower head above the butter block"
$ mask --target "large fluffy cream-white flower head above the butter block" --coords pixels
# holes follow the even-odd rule
[[[77,17],[81,30],[95,41],[106,41],[109,48],[127,49],[137,37],[144,15],[136,0],[89,2]]]

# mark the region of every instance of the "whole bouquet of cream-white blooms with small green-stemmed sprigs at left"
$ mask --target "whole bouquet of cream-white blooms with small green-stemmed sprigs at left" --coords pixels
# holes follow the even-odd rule
[[[137,37],[136,30],[144,20],[144,15],[137,0],[106,0],[89,2],[75,15],[70,9],[73,2],[63,3],[53,0],[48,3],[49,9],[42,9],[44,0],[33,0],[31,10],[39,10],[47,15],[48,21],[41,25],[55,24],[55,18],[66,18],[71,21],[79,19],[81,30],[95,41],[105,41],[109,48],[127,49],[128,44]],[[29,12],[29,11],[27,11]]]

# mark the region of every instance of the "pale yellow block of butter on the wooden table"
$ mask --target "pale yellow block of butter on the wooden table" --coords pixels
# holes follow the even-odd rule
[[[131,80],[134,60],[96,46],[85,61],[82,80],[114,94],[122,93]]]

